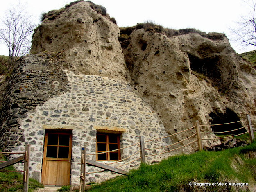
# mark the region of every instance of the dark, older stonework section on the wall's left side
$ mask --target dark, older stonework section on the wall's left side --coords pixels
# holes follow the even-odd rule
[[[51,97],[68,90],[66,73],[58,64],[39,56],[21,59],[11,75],[9,86],[2,102],[0,116],[1,148],[24,145],[24,131],[29,127],[28,113]],[[24,120],[23,128],[20,129]]]

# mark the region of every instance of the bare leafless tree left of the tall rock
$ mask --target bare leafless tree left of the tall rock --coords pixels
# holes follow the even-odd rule
[[[32,17],[27,14],[23,6],[12,7],[6,11],[0,25],[0,40],[9,49],[8,70],[10,70],[20,56],[29,52],[31,34],[36,25]]]

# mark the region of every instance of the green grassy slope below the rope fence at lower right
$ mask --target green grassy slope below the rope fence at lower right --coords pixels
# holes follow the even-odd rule
[[[197,183],[249,183],[256,186],[256,143],[219,152],[202,151],[190,155],[172,156],[159,164],[142,165],[128,176],[117,177],[99,185],[90,192],[174,192],[174,191],[242,191],[231,186],[192,186]]]

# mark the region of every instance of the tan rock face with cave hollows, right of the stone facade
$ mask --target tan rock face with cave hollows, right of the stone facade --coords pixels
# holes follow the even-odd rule
[[[256,115],[255,69],[224,34],[168,37],[134,29],[125,35],[121,43],[131,78],[169,133],[195,120],[216,124]]]

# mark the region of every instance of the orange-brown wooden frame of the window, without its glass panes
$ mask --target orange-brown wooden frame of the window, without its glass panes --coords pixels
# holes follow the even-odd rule
[[[106,142],[98,142],[98,135],[104,135],[106,137]],[[115,135],[117,136],[117,143],[110,143],[109,142],[109,136],[111,135]],[[109,150],[109,144],[117,144],[118,148],[120,149],[120,134],[115,134],[115,133],[97,133],[96,134],[96,153],[101,153],[101,152],[105,152],[105,151],[98,151],[98,143],[106,143],[106,151],[110,151]],[[117,150],[117,151],[113,151],[113,152],[107,152],[106,153],[106,159],[98,159],[98,155],[96,155],[96,160],[97,161],[118,161],[118,160],[111,160],[110,159],[110,153],[117,153],[118,154],[118,160],[121,160],[121,150]]]

